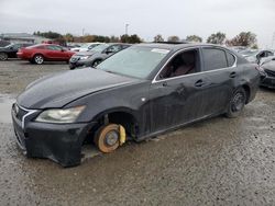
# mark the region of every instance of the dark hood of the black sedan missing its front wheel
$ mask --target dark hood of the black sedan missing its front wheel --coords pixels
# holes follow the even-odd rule
[[[99,69],[65,71],[34,81],[18,96],[16,102],[33,110],[63,107],[81,96],[138,81]]]

